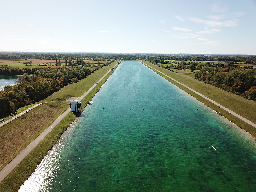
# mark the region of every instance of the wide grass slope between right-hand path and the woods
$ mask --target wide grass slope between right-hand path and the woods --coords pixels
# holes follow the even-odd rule
[[[194,74],[189,71],[179,71],[178,73],[174,73],[170,70],[160,68],[152,63],[147,61],[143,61],[149,66],[156,68],[157,70],[161,71],[162,73],[172,77],[173,79],[179,81],[182,84],[187,85],[191,89],[205,95],[206,97],[220,103],[221,105],[225,106],[226,108],[234,111],[235,113],[245,117],[246,119],[256,123],[256,102],[245,99],[239,95],[224,91],[220,88],[214,87],[209,84],[205,84],[202,81],[194,79],[191,75],[187,73]],[[185,74],[183,74],[183,72]]]

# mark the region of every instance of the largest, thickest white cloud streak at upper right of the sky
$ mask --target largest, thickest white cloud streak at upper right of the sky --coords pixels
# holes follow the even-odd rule
[[[203,20],[195,17],[190,17],[189,20],[198,24],[205,25],[207,27],[234,27],[238,25],[237,21],[234,21],[234,20],[226,20],[226,21],[220,22],[220,21]]]

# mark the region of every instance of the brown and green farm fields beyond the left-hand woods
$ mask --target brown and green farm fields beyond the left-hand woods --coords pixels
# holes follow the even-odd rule
[[[25,62],[31,61],[32,64],[31,65],[26,65],[24,64]],[[59,60],[57,60],[59,63]],[[67,60],[68,62],[69,60]],[[74,61],[74,60],[73,60]],[[85,63],[88,63],[89,60],[84,60]],[[20,62],[20,63],[19,63]],[[108,60],[106,59],[106,61],[100,61],[100,64],[104,64],[107,63]],[[12,67],[17,67],[17,68],[38,68],[41,66],[44,66],[44,64],[47,64],[47,66],[49,66],[51,64],[50,67],[59,67],[59,66],[55,66],[56,60],[49,60],[49,59],[28,59],[28,60],[12,60],[12,59],[0,59],[0,65],[10,65]],[[60,63],[62,66],[65,66],[65,60],[60,60]],[[93,61],[90,60],[90,64],[95,63],[96,66],[98,66],[98,61]],[[40,64],[41,66],[38,66],[38,64]]]

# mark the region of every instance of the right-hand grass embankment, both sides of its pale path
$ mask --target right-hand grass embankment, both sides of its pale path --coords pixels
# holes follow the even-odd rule
[[[162,73],[172,77],[173,79],[179,81],[182,84],[187,85],[191,89],[200,92],[204,96],[218,102],[220,105],[225,106],[226,108],[234,111],[235,113],[245,117],[246,119],[252,121],[253,123],[256,123],[255,114],[256,114],[256,102],[245,99],[239,95],[224,91],[220,88],[214,87],[209,84],[205,84],[202,81],[198,81],[192,77],[194,73],[189,71],[181,71],[177,70],[178,73],[174,73],[170,70],[160,68],[156,65],[153,65],[152,63],[149,63],[147,61],[143,61],[149,66],[156,68],[157,70],[161,71]],[[153,69],[154,70],[154,69]],[[155,71],[155,70],[154,70]],[[176,83],[175,81],[171,80],[170,78],[164,76],[163,74],[155,71],[159,75],[163,76],[165,79],[170,81],[171,83],[175,84],[176,86],[180,87],[193,97],[195,97],[197,100],[201,101],[208,107],[214,109],[215,111],[218,111],[221,113],[222,116],[226,117],[228,120],[233,122],[234,124],[238,125],[239,127],[243,128],[245,131],[251,133],[254,137],[256,137],[256,128],[245,123],[243,120],[237,118],[236,116],[228,113],[224,109],[219,108],[219,106],[213,104],[212,102],[204,99],[203,97],[197,95],[196,93],[190,91],[186,87]]]

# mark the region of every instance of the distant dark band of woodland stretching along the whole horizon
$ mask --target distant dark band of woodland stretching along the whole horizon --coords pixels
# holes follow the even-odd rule
[[[255,55],[215,55],[215,54],[152,54],[152,53],[36,53],[0,52],[0,59],[51,59],[51,60],[191,60],[191,61],[234,61],[256,64]],[[246,64],[246,63],[245,63]]]

